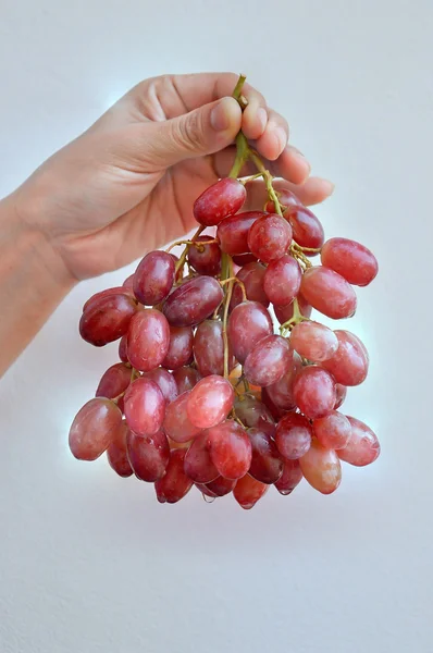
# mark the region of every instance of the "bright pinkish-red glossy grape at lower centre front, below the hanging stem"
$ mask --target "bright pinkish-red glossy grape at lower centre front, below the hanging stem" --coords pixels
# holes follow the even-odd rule
[[[218,374],[205,377],[190,391],[186,404],[190,422],[200,429],[219,424],[232,410],[234,396],[230,381]]]

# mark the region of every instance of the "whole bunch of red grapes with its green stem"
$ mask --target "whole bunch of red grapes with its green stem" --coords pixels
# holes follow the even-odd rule
[[[71,451],[83,460],[107,452],[117,475],[153,483],[161,503],[195,485],[208,501],[233,492],[251,508],[270,485],[289,494],[302,478],[330,494],[342,460],[361,467],[380,453],[373,431],[339,410],[367,377],[366,347],[311,319],[312,309],[351,317],[352,286],[368,285],[378,262],[354,241],[324,242],[318,218],[274,190],[242,133],[237,151],[231,175],[196,200],[199,227],[176,244],[181,256],[147,254],[123,286],[85,304],[79,322],[95,346],[120,340],[120,362],[75,417]],[[258,174],[237,178],[247,159]],[[242,211],[257,176],[269,200]]]

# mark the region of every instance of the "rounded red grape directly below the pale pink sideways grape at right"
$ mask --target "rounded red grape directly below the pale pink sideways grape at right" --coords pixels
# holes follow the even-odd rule
[[[323,368],[304,368],[293,384],[293,394],[299,410],[310,419],[324,417],[335,406],[335,383]]]

